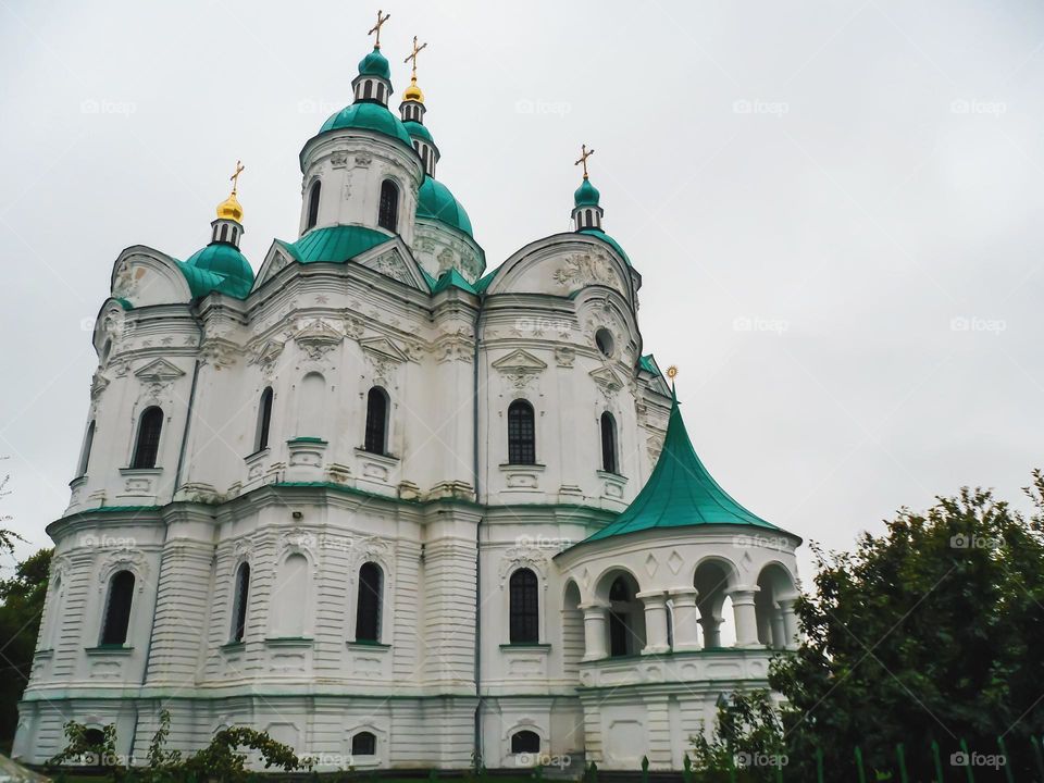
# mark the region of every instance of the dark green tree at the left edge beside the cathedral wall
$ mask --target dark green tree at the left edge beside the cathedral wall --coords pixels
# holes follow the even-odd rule
[[[0,536],[0,549],[5,542]],[[11,753],[18,720],[18,699],[29,680],[36,637],[44,613],[51,549],[20,562],[11,579],[0,580],[0,748]]]

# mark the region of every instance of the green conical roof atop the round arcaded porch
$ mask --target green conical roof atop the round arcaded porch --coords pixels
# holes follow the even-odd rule
[[[710,476],[696,456],[675,397],[663,450],[649,481],[623,513],[582,543],[660,527],[707,524],[779,530],[733,500]]]

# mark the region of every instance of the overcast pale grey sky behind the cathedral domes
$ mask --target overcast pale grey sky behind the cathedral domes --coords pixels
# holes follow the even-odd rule
[[[204,245],[237,158],[254,269],[296,238],[297,154],[350,102],[376,7],[261,5],[0,0],[0,508],[34,547],[69,500],[120,250]],[[962,484],[1017,499],[1044,465],[1044,5],[381,5],[397,91],[430,44],[439,179],[490,269],[568,228],[597,150],[646,350],[753,511],[849,547]]]

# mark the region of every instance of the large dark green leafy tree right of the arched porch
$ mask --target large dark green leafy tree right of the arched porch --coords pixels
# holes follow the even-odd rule
[[[853,552],[813,547],[816,589],[796,606],[803,645],[769,676],[783,707],[734,700],[697,751],[717,763],[775,733],[787,779],[816,779],[817,748],[825,770],[853,779],[858,747],[870,780],[899,780],[902,743],[910,779],[928,780],[933,741],[953,770],[961,738],[990,756],[1004,735],[1008,766],[1029,779],[1029,738],[1044,731],[1044,474],[1026,492],[1029,518],[965,488],[924,513],[902,509]]]

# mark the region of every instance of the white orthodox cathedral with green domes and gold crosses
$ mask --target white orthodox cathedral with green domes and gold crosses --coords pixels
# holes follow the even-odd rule
[[[297,238],[254,274],[234,178],[204,248],[115,261],[24,761],[76,720],[142,762],[167,709],[320,770],[678,769],[795,645],[800,538],[696,456],[588,153],[574,231],[488,269],[381,22]]]

